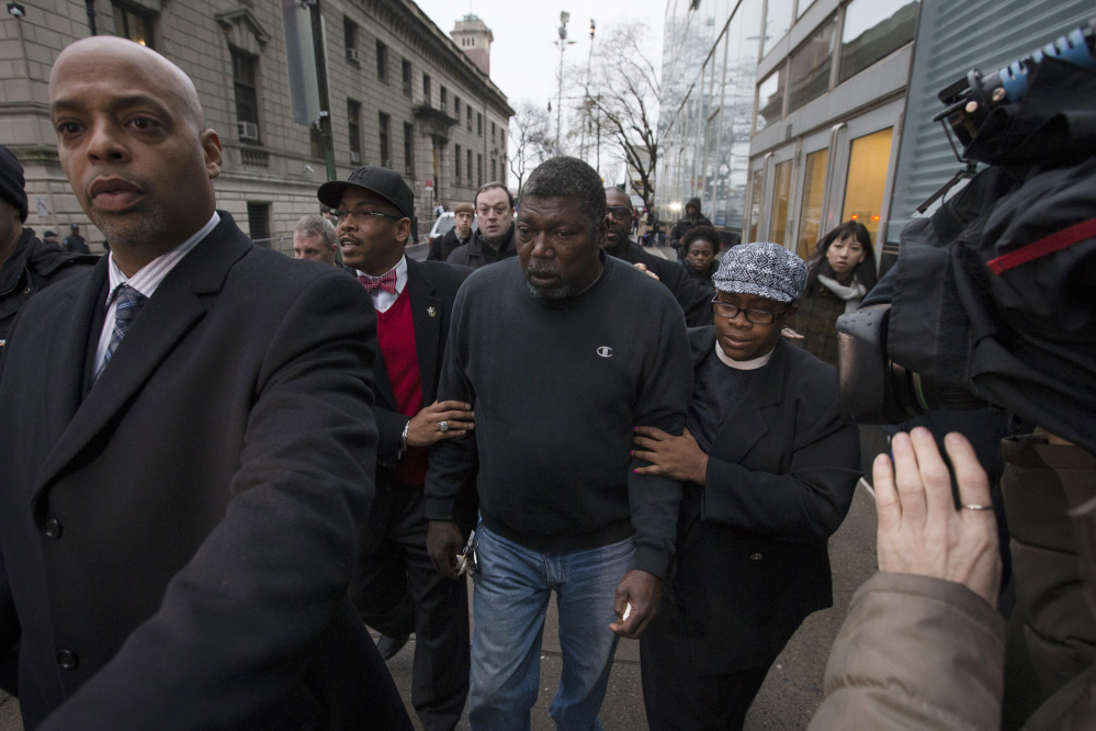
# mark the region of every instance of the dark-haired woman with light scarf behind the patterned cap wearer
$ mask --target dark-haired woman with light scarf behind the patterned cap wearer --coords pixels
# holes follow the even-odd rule
[[[856,310],[878,279],[868,228],[848,221],[826,234],[806,260],[806,271],[795,333],[788,335],[809,352],[837,366],[837,318]]]

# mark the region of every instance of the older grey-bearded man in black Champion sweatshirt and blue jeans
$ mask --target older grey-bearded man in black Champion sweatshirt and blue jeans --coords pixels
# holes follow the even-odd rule
[[[629,450],[636,424],[681,431],[685,318],[666,288],[601,251],[605,206],[585,162],[540,166],[518,204],[518,259],[474,272],[453,310],[439,397],[472,403],[476,430],[431,452],[428,548],[452,574],[454,501],[478,459],[473,729],[528,728],[553,589],[552,718],[595,728],[618,636],[647,626],[673,553],[681,486],[635,474]]]

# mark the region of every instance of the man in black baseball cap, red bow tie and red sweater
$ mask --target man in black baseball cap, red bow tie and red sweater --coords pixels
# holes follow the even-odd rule
[[[317,196],[335,209],[342,260],[373,300],[381,356],[373,366],[376,499],[351,597],[384,636],[377,646],[386,659],[415,631],[411,704],[426,729],[452,729],[468,691],[467,593],[463,576],[442,576],[427,553],[422,484],[428,448],[475,426],[468,404],[436,401],[453,300],[472,270],[404,255],[415,196],[392,170],[358,168],[346,181],[320,185]],[[467,532],[474,477],[465,496]]]

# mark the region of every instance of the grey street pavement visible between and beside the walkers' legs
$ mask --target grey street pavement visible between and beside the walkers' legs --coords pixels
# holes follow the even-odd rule
[[[667,259],[675,256],[674,250],[669,248],[651,250]],[[426,258],[427,245],[410,246],[407,252],[411,258],[421,261]],[[865,460],[868,464],[871,463],[870,457]],[[826,659],[845,619],[849,599],[860,584],[875,571],[875,525],[873,495],[861,482],[856,490],[848,517],[829,540],[829,558],[834,570],[834,606],[809,617],[789,641],[769,671],[765,685],[761,686],[746,717],[746,731],[806,728],[822,701]],[[414,648],[413,637],[407,646],[388,661],[388,670],[399,687],[408,710],[411,708]],[[541,693],[532,710],[533,731],[547,731],[554,728],[549,716],[549,707],[558,687],[560,671],[558,621],[553,601],[549,607],[544,627]],[[621,640],[617,648],[609,691],[600,718],[607,730],[643,731],[647,728],[640,684],[640,645],[636,641]],[[416,728],[421,728],[417,719],[413,720],[416,722]],[[457,728],[468,728],[466,715]],[[0,691],[0,731],[22,731],[22,729],[18,701]]]

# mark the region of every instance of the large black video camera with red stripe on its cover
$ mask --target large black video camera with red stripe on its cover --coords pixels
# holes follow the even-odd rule
[[[843,416],[991,404],[1096,452],[1096,18],[939,99],[967,169],[930,201],[971,180],[838,318]]]

